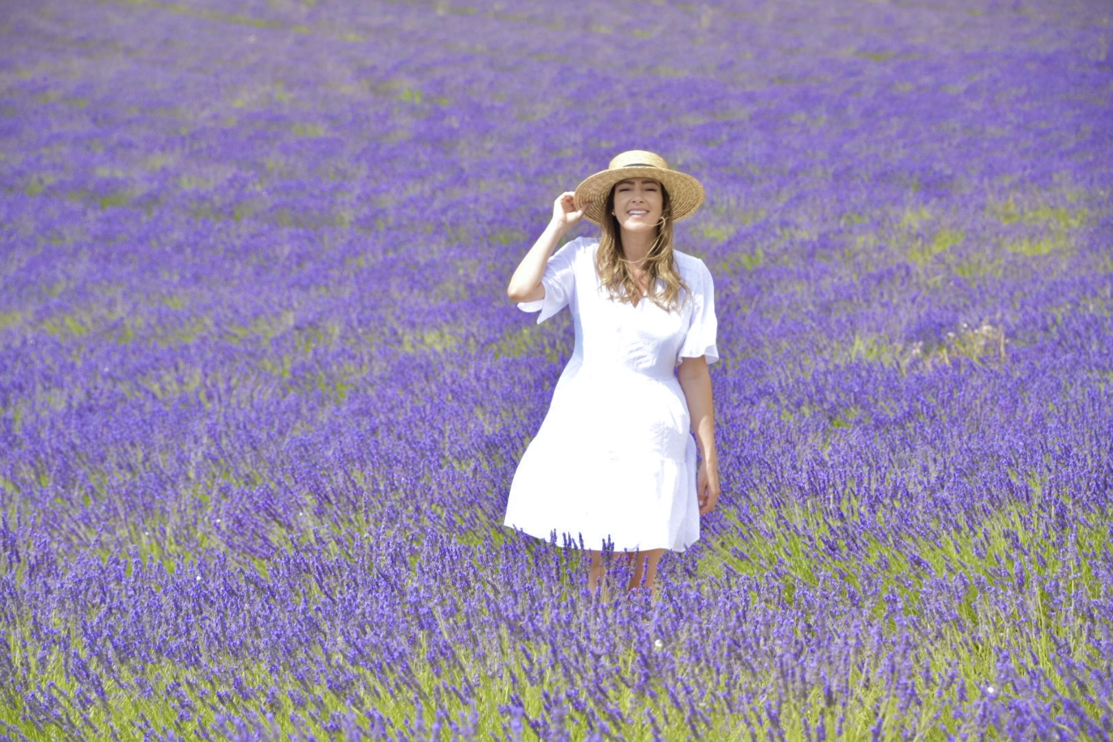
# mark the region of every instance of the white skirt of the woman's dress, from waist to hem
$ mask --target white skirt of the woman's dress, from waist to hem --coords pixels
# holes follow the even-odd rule
[[[565,376],[519,463],[505,522],[582,548],[682,552],[699,538],[688,431],[674,377]]]

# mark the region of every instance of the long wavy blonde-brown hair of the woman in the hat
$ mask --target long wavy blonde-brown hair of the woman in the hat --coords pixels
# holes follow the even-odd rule
[[[599,251],[595,254],[595,271],[612,299],[634,304],[634,299],[641,299],[641,291],[630,270],[630,260],[622,249],[622,230],[618,217],[611,214],[613,210],[614,188],[611,188],[600,222],[602,230],[599,235]],[[661,220],[657,222],[657,237],[646,254],[642,266],[649,274],[648,298],[668,311],[679,309],[682,303],[681,289],[687,295],[688,285],[680,277],[672,256],[672,201],[663,185]],[[664,288],[660,291],[657,290],[658,278],[664,281]]]

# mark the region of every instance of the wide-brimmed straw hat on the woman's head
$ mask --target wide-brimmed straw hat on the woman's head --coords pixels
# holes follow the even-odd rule
[[[670,170],[669,164],[660,155],[641,149],[615,155],[605,170],[584,178],[575,187],[575,206],[583,209],[583,216],[600,224],[607,197],[619,180],[627,178],[652,178],[664,186],[672,202],[672,220],[680,221],[691,215],[703,202],[703,186],[686,172]]]

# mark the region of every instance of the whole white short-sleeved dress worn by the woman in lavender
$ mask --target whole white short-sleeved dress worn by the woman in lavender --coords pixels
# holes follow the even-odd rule
[[[649,298],[633,306],[600,285],[598,246],[580,237],[561,247],[541,279],[544,298],[518,305],[540,309],[538,323],[568,306],[575,347],[519,462],[503,523],[583,548],[609,541],[615,552],[682,552],[699,538],[699,504],[696,441],[676,368],[681,358],[719,358],[711,274],[674,250],[690,289],[680,310]]]

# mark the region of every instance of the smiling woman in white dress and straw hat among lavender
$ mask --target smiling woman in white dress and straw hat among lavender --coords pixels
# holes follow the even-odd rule
[[[644,572],[656,593],[661,555],[699,538],[699,516],[719,498],[711,274],[672,247],[672,224],[702,201],[696,178],[652,152],[622,152],[556,198],[506,289],[521,309],[541,311],[539,323],[568,306],[575,347],[519,463],[504,523],[589,550],[591,591],[610,546],[636,560],[629,587]],[[582,216],[599,238],[553,254]]]

